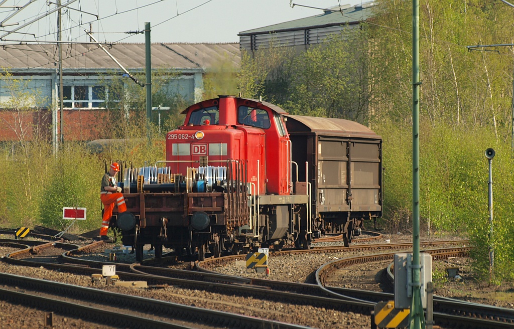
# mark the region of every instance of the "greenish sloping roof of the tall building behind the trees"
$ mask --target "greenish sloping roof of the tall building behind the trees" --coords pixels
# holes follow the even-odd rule
[[[313,27],[357,23],[359,21],[368,20],[368,18],[373,17],[375,15],[377,9],[375,4],[376,3],[368,2],[362,5],[355,5],[354,7],[342,10],[342,14],[340,11],[325,11],[324,13],[315,16],[309,16],[294,21],[268,25],[253,30],[242,31],[237,35],[241,36],[248,34],[261,34],[298,29],[304,30],[306,28]]]

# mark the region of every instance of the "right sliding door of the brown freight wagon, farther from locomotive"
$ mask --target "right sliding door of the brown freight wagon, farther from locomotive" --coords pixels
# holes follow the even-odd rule
[[[381,211],[380,185],[382,164],[380,142],[351,141],[350,143],[350,195],[352,212],[363,211],[361,216],[377,216]],[[381,215],[380,215],[381,216]]]

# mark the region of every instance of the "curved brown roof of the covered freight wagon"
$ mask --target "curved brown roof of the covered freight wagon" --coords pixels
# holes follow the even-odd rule
[[[285,114],[287,131],[314,132],[318,135],[381,139],[373,130],[360,123],[335,118],[305,117]]]

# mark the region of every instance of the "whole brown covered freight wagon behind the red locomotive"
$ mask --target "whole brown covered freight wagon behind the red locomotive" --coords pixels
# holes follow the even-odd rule
[[[382,216],[381,137],[353,121],[285,117],[292,161],[306,163],[299,175],[307,175],[312,186],[314,229],[343,234],[348,246],[365,219]]]

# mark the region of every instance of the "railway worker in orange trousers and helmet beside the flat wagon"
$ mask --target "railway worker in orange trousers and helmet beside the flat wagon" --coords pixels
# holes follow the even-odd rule
[[[120,171],[120,165],[116,162],[111,164],[109,172],[106,172],[102,179],[102,188],[100,191],[100,200],[104,205],[102,226],[100,227],[100,239],[109,240],[107,238],[107,230],[109,229],[109,222],[113,216],[114,205],[118,206],[118,211],[123,212],[127,210],[125,199],[121,194],[121,187],[116,185],[116,173]]]

